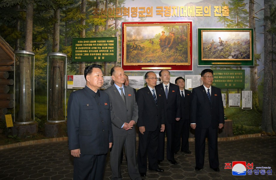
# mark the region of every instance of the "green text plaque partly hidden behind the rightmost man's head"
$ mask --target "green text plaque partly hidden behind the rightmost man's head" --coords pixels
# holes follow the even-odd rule
[[[213,70],[213,86],[222,89],[244,89],[245,70]]]

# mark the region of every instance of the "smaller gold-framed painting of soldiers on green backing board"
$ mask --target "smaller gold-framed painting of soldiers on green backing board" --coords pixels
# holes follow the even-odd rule
[[[253,29],[198,29],[199,66],[253,66]]]

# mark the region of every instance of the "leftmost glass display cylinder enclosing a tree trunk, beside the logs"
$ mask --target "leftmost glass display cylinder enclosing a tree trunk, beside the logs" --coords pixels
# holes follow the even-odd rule
[[[34,64],[34,52],[14,51],[14,122],[16,124],[29,124],[35,121]]]

